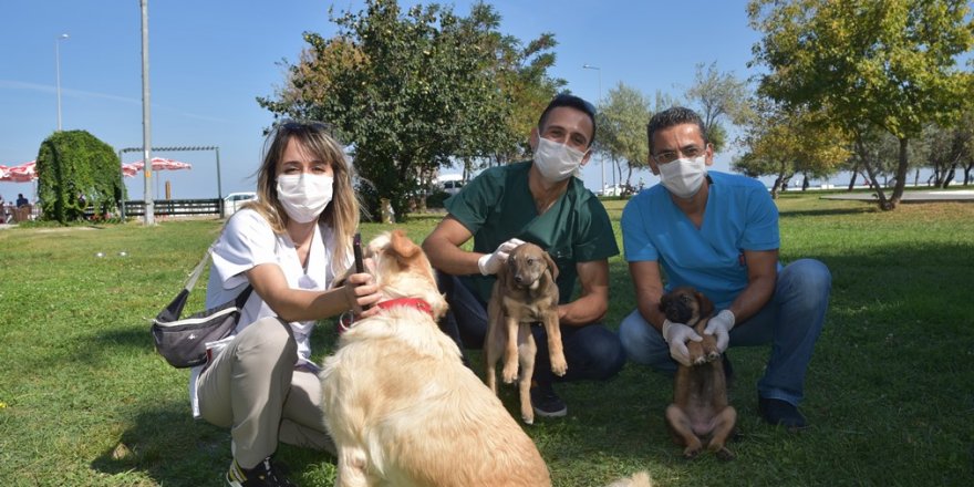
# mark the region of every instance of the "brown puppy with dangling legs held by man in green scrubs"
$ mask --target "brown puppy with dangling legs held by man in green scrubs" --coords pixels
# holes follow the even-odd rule
[[[558,328],[557,278],[558,267],[548,252],[533,244],[521,244],[511,250],[507,263],[497,272],[487,304],[489,328],[484,343],[487,385],[497,394],[495,366],[504,356],[504,382],[510,384],[518,380],[521,418],[527,424],[535,422],[530,387],[538,352],[531,323],[541,322],[548,332],[551,372],[564,375],[568,370]]]

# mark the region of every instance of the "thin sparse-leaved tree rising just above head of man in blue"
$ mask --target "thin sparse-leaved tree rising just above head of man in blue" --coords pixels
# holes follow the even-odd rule
[[[701,118],[715,152],[727,145],[724,118],[739,124],[749,116],[748,92],[747,83],[737,80],[734,73],[721,73],[716,61],[706,66],[706,71],[703,63],[696,65],[696,80],[686,91],[686,99],[700,105]]]

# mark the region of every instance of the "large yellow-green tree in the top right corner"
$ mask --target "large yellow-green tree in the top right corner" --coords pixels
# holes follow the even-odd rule
[[[972,75],[956,63],[974,44],[968,13],[966,0],[752,0],[750,25],[764,33],[754,63],[770,69],[759,91],[789,108],[828,110],[857,145],[870,125],[895,136],[890,198],[874,162],[862,160],[880,207],[893,209],[910,139],[929,123],[956,120],[972,97]]]

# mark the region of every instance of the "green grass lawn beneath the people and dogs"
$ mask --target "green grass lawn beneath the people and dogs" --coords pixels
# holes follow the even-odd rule
[[[623,205],[605,203],[620,247]],[[812,427],[792,435],[763,424],[755,383],[768,348],[732,349],[737,459],[686,462],[663,419],[671,380],[628,364],[608,383],[559,386],[568,417],[526,427],[555,485],[640,469],[662,486],[974,485],[974,205],[881,213],[785,194],[778,206],[781,258],[820,259],[833,277],[802,405]],[[400,227],[422,240],[438,219]],[[191,419],[188,372],[156,355],[148,333],[220,225],[0,231],[0,484],[222,485],[229,433]],[[385,229],[364,225],[363,236]],[[615,328],[635,303],[625,262],[610,265]],[[334,339],[323,322],[319,359]],[[502,398],[516,412],[516,392]],[[283,445],[278,458],[299,485],[333,483],[327,454]]]

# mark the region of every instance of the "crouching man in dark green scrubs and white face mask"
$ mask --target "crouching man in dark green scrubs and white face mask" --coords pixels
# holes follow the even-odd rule
[[[538,416],[568,413],[552,382],[607,380],[625,363],[619,336],[600,322],[609,308],[608,259],[619,253],[615,235],[601,201],[573,177],[589,160],[594,136],[594,107],[578,96],[556,96],[531,128],[533,158],[489,168],[464,186],[446,200],[448,215],[423,242],[450,305],[443,328],[469,349],[484,346],[486,303],[508,252],[527,241],[555,259],[568,372],[551,373],[545,329],[531,327]],[[470,238],[473,251],[466,251],[462,246]]]

